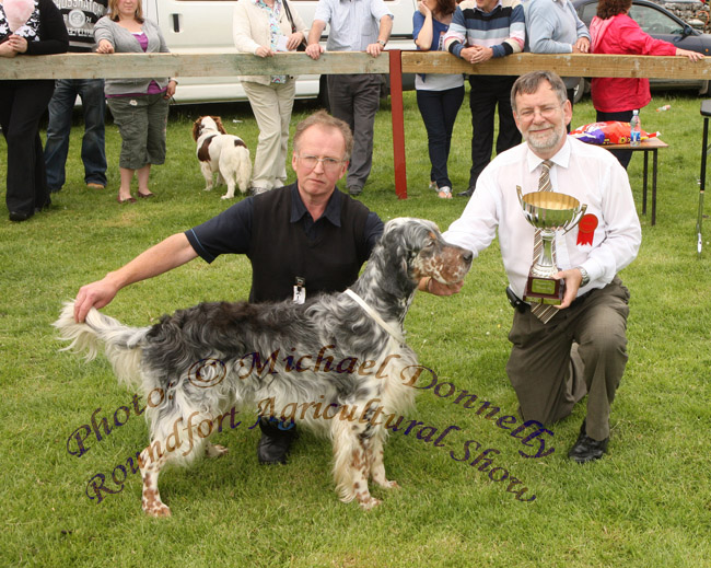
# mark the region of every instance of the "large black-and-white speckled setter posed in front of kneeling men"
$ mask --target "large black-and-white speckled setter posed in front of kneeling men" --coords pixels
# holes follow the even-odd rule
[[[141,328],[95,309],[78,324],[70,302],[54,325],[72,341],[66,349],[88,359],[103,343],[119,380],[140,383],[148,396],[151,443],[139,460],[148,514],[171,514],[158,488],[166,462],[222,454],[209,436],[234,419],[235,407],[257,405],[263,416],[329,433],[340,499],[370,509],[380,501],[369,477],[397,487],[385,476],[383,442],[391,420],[412,405],[422,369],[403,331],[418,281],[459,282],[471,257],[431,221],[400,218],[385,225],[362,276],[341,293],[304,304],[201,303]]]

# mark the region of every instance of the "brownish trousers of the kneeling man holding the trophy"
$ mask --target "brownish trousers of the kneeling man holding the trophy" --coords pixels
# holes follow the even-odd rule
[[[548,324],[531,310],[516,311],[506,373],[525,420],[560,420],[587,393],[587,436],[609,436],[609,408],[627,364],[628,301],[615,277]]]

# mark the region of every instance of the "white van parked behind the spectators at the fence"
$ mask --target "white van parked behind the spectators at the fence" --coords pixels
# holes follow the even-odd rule
[[[316,0],[288,0],[292,10],[311,25]],[[417,0],[385,0],[395,15],[388,48],[412,49],[412,14]],[[143,0],[143,13],[161,26],[173,53],[237,53],[232,42],[232,11],[235,0]],[[322,37],[325,40],[328,28]],[[405,81],[404,81],[405,82]],[[326,100],[325,77],[302,76],[296,81],[296,98]],[[176,103],[246,101],[236,77],[180,78]]]

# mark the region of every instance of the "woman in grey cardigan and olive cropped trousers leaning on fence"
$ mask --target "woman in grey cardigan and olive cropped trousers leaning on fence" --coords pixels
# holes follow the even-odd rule
[[[108,12],[94,27],[97,53],[168,51],[158,24],[143,18],[141,0],[108,0]],[[153,197],[148,181],[151,165],[165,162],[168,98],[176,84],[166,77],[106,80],[106,101],[121,135],[121,185],[116,197],[121,205],[136,202],[131,196],[133,174],[138,177],[138,196]]]

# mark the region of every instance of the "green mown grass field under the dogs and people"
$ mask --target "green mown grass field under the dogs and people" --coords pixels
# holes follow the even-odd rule
[[[230,453],[161,476],[167,520],[140,510],[140,479],[128,475],[117,495],[90,500],[86,485],[103,473],[114,488],[115,466],[145,445],[145,422],[131,416],[101,442],[89,438],[81,457],[67,452],[72,431],[131,406],[132,391],[117,384],[105,359],[85,363],[59,352],[50,323],[79,287],[163,237],[208,219],[230,204],[202,192],[190,124],[221,114],[231,132],[256,147],[247,105],[174,108],[165,165],[155,167],[158,198],[116,204],[119,139],[107,127],[109,186],[83,185],[81,127],[72,135],[68,182],[49,212],[14,224],[0,210],[0,500],[2,566],[187,566],[187,567],[701,567],[711,566],[711,245],[696,255],[702,119],[699,100],[655,96],[642,127],[660,130],[671,148],[660,151],[657,223],[641,217],[639,258],[622,274],[629,287],[629,364],[611,415],[609,455],[579,466],[566,459],[584,408],[551,427],[556,451],[525,459],[526,450],[492,421],[441,398],[419,393],[409,418],[440,429],[461,428],[444,448],[394,433],[386,447],[388,474],[399,491],[375,488],[380,508],[362,512],[340,503],[334,491],[330,447],[302,431],[285,467],[259,467],[254,415],[218,436]],[[384,219],[426,217],[445,229],[464,208],[428,190],[427,136],[415,97],[405,100],[408,159],[407,200],[395,197],[389,107],[377,116],[373,173],[363,201]],[[292,125],[311,112],[298,104]],[[241,121],[235,124],[234,120]],[[575,106],[573,126],[594,120],[588,100]],[[463,107],[450,166],[454,189],[467,186],[470,127]],[[4,141],[0,141],[4,177]],[[629,169],[641,210],[642,158]],[[293,174],[292,174],[293,177]],[[223,188],[221,188],[223,192]],[[708,232],[711,223],[707,222]],[[707,241],[709,239],[707,237]],[[129,287],[104,311],[129,325],[205,300],[246,298],[244,258],[212,266],[196,260]],[[476,260],[461,294],[418,295],[407,321],[408,343],[440,382],[452,382],[501,407],[516,410],[504,372],[512,312],[497,246]],[[445,394],[443,389],[440,394]],[[141,405],[142,406],[142,405]],[[121,417],[124,411],[119,411]],[[451,457],[464,442],[493,448],[493,465],[527,487],[521,502],[508,480]],[[548,444],[550,447],[550,443]],[[474,454],[473,454],[474,455]],[[474,457],[470,457],[471,461]],[[117,475],[120,470],[117,471]],[[503,475],[501,471],[497,475]]]

